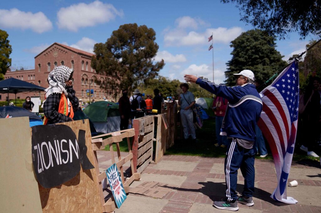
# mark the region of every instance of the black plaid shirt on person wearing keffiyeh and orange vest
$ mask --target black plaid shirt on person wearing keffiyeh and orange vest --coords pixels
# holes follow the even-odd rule
[[[68,92],[69,101],[73,105],[73,110],[76,112],[79,106],[78,98],[75,96],[76,92],[73,89],[73,86],[66,87],[66,90]],[[48,119],[47,124],[57,124],[72,121],[71,117],[58,112],[60,97],[60,93],[52,93],[46,98],[46,101],[43,104],[43,113]]]

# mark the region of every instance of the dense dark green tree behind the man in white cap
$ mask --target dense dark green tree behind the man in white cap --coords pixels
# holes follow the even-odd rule
[[[233,74],[245,69],[254,72],[256,80],[263,83],[284,68],[287,63],[275,49],[275,40],[274,36],[269,36],[262,30],[248,30],[235,38],[230,45],[233,47],[232,59],[226,63],[226,84],[234,86]]]

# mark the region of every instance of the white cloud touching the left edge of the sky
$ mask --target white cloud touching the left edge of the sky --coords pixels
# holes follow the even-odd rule
[[[22,30],[31,29],[37,33],[52,29],[51,21],[42,12],[23,12],[17,8],[0,10],[0,26]]]

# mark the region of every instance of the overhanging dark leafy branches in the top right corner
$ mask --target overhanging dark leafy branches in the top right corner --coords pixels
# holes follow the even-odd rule
[[[237,3],[241,21],[284,39],[290,32],[299,32],[301,38],[309,33],[321,35],[321,0],[221,0]]]

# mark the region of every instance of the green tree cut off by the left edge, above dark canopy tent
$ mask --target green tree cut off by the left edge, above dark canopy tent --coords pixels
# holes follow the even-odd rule
[[[0,80],[4,79],[4,74],[11,66],[11,58],[9,58],[11,52],[12,48],[9,44],[8,33],[0,30]]]

